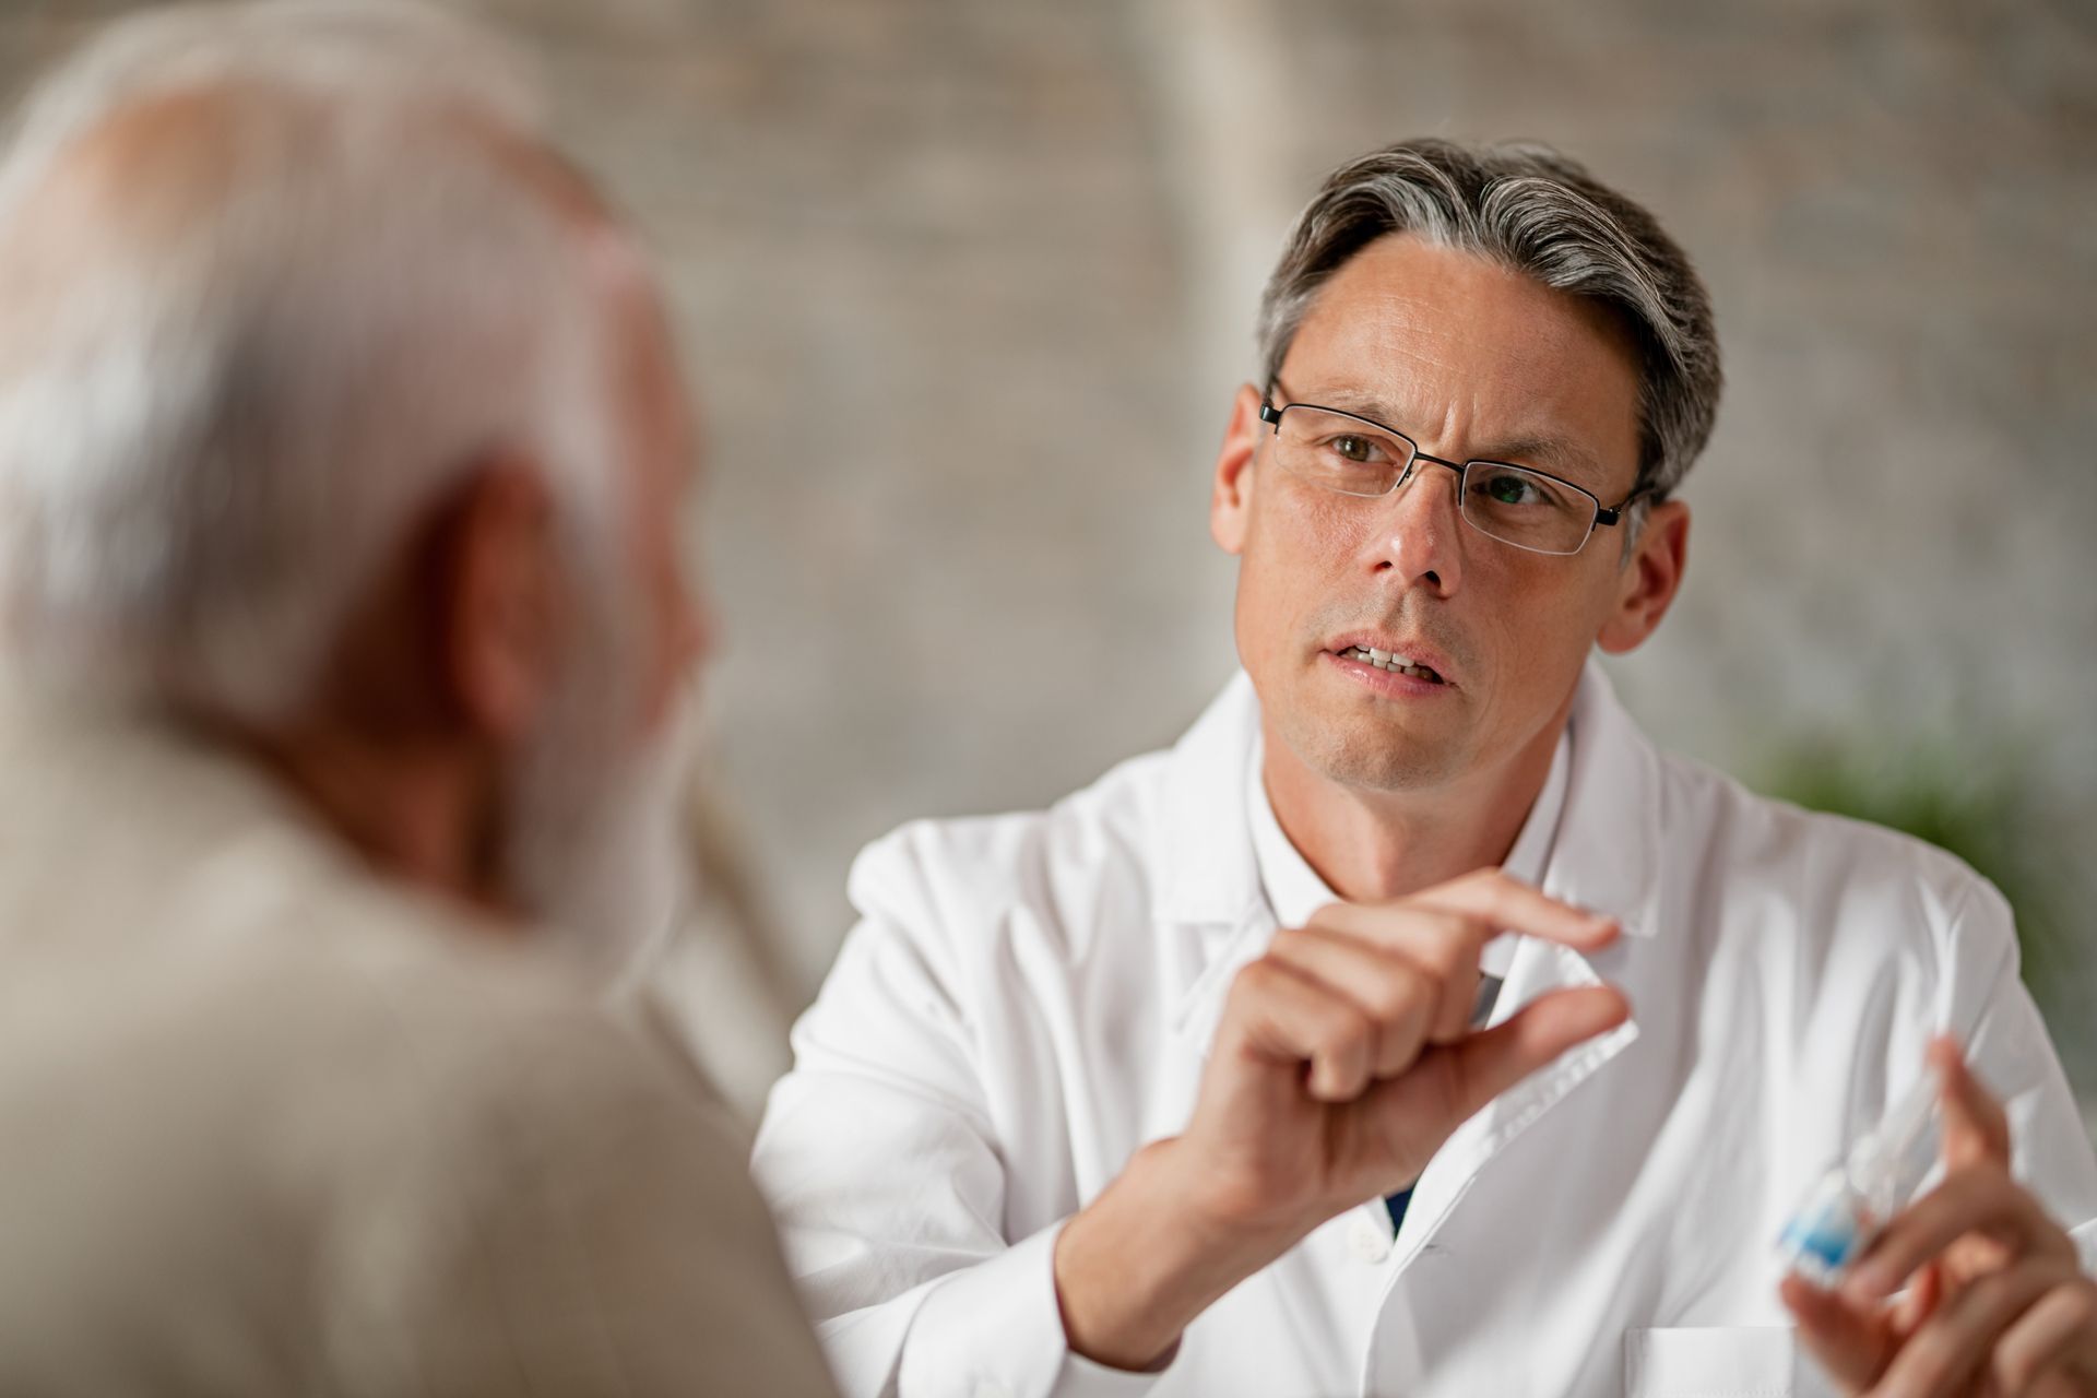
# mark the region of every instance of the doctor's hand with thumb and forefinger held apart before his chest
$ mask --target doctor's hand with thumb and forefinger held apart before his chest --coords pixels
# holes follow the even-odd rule
[[[1619,933],[1499,870],[1277,933],[1231,985],[1187,1130],[1139,1151],[1057,1239],[1072,1350],[1166,1362],[1225,1291],[1411,1186],[1472,1113],[1625,1021],[1623,993],[1594,985],[1472,1029],[1478,956],[1504,931],[1579,952]]]

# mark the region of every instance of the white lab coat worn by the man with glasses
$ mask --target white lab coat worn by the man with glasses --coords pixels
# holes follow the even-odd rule
[[[1585,960],[1518,941],[1495,1019],[1606,979],[1634,1023],[1460,1128],[1395,1243],[1382,1201],[1342,1214],[1162,1375],[1067,1354],[1055,1232],[1185,1126],[1225,989],[1275,931],[1256,750],[1239,675],[1176,748],[1046,813],[912,824],[860,857],[864,920],[755,1157],[847,1394],[1818,1394],[1772,1239],[1940,1029],[2097,1255],[2097,1161],[1996,891],[1657,752],[1590,669],[1543,889],[1625,937]]]

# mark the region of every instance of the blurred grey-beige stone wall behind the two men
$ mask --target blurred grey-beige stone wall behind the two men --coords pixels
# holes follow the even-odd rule
[[[0,78],[117,8],[13,0]],[[1420,132],[1562,145],[1715,293],[1730,390],[1634,711],[1749,776],[1801,734],[2022,744],[2097,899],[2082,0],[480,8],[669,266],[713,790],[801,993],[858,845],[1040,805],[1225,679],[1206,469],[1258,281],[1327,166]]]

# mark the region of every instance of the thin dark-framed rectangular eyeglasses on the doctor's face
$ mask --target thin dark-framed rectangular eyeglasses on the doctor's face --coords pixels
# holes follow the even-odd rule
[[[1644,490],[1617,505],[1545,472],[1506,461],[1443,461],[1403,432],[1309,402],[1260,405],[1275,430],[1275,461],[1292,476],[1340,495],[1390,495],[1422,461],[1457,474],[1457,514],[1480,534],[1531,553],[1579,553],[1596,524],[1615,526]]]

